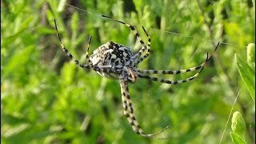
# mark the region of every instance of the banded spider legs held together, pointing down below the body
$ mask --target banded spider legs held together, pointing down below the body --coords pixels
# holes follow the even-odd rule
[[[143,132],[142,128],[138,125],[138,121],[134,117],[134,110],[133,110],[132,102],[130,100],[130,94],[129,94],[127,79],[124,78],[123,76],[120,76],[119,77],[119,83],[120,83],[120,86],[121,86],[122,106],[123,106],[123,109],[124,109],[124,114],[125,114],[128,122],[132,126],[132,129],[134,130],[134,132],[136,134],[140,134],[141,136],[147,137],[147,138],[154,138],[154,135],[161,134],[162,131],[166,130],[169,127],[169,126],[166,126],[166,128],[164,128],[164,129],[162,129],[159,132],[154,133],[154,134],[145,134]],[[158,138],[158,139],[166,139],[166,138]]]

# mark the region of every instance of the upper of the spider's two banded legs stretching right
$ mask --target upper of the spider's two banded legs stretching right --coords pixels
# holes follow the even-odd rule
[[[218,45],[219,45],[219,42],[218,42]],[[215,47],[214,52],[217,50],[218,45]],[[212,54],[210,54],[210,57],[207,58],[206,61],[203,62],[201,65],[194,66],[194,67],[191,67],[191,68],[188,68],[188,69],[185,69],[185,70],[138,70],[138,72],[141,73],[141,74],[182,74],[182,73],[198,70],[202,66],[204,66],[207,61],[210,60],[210,58],[212,57],[214,52]]]

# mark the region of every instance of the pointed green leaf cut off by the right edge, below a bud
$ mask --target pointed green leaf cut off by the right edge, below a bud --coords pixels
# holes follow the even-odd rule
[[[251,98],[255,99],[255,72],[242,58],[236,54],[234,54],[234,57],[237,62],[239,74],[241,75],[243,82],[246,83]]]

